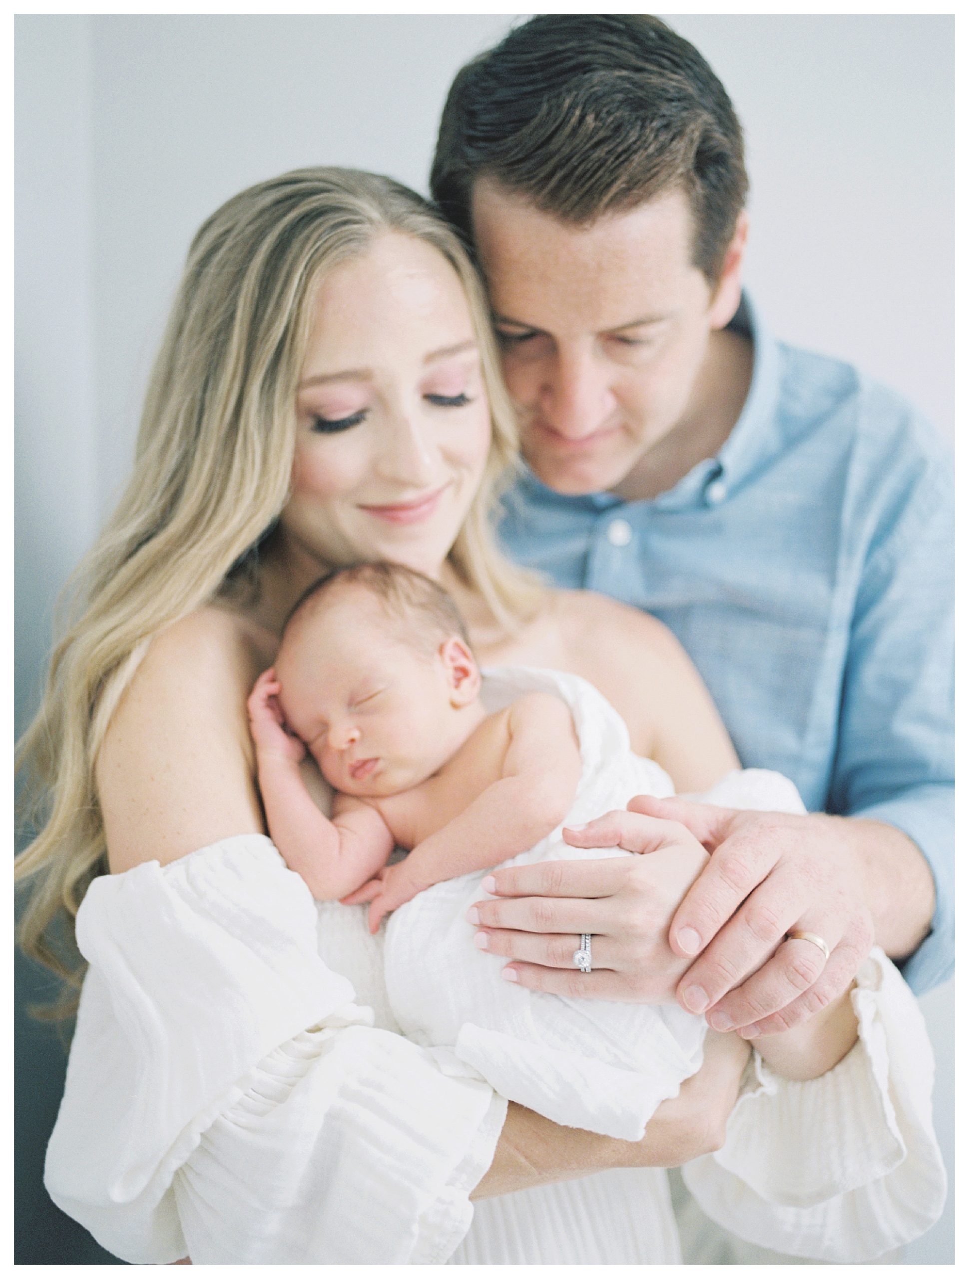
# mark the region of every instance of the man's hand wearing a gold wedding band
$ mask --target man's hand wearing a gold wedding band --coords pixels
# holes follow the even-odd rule
[[[850,820],[646,796],[629,808],[683,822],[711,853],[670,926],[672,950],[698,955],[676,990],[684,1008],[753,1039],[800,1024],[848,989],[874,941]],[[794,929],[823,938],[830,958],[786,939]]]

